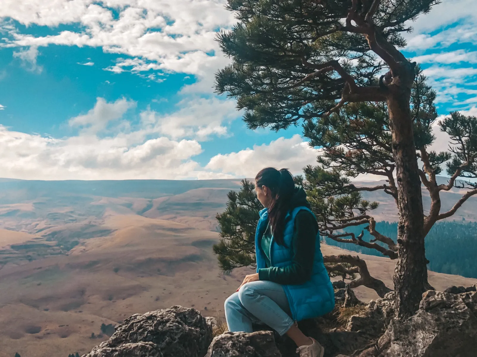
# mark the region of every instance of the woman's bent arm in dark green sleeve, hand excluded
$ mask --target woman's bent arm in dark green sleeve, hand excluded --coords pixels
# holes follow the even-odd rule
[[[292,239],[291,264],[282,268],[261,268],[259,269],[259,279],[270,280],[282,285],[300,285],[308,281],[313,269],[317,234],[318,224],[313,215],[305,210],[298,212],[295,217],[295,230]]]

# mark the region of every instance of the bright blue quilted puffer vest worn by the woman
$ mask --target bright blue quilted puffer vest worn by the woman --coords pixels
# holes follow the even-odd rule
[[[295,217],[301,210],[311,210],[307,207],[297,207],[285,217],[285,230],[283,240],[285,245],[279,246],[272,237],[270,243],[270,262],[273,267],[286,267],[291,264],[293,252],[291,251]],[[314,215],[313,215],[314,216]],[[260,219],[255,233],[255,256],[257,258],[257,272],[260,268],[266,268],[266,260],[259,241],[268,224],[268,210],[260,211]],[[292,318],[301,321],[306,318],[319,317],[332,311],[334,308],[334,291],[323,264],[323,256],[320,249],[320,236],[317,236],[315,244],[315,258],[311,279],[301,285],[282,285],[290,304]],[[288,248],[287,248],[288,247]]]

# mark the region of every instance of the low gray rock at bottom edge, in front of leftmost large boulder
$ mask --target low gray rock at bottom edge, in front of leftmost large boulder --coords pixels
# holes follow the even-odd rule
[[[118,347],[94,347],[83,357],[163,357],[152,342],[125,343]]]

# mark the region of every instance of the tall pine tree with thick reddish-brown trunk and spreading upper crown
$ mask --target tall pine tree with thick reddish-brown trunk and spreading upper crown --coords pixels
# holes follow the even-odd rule
[[[421,103],[412,103],[411,108],[417,69],[416,63],[399,51],[405,46],[400,33],[411,30],[404,25],[406,21],[415,20],[437,3],[439,0],[229,0],[228,9],[235,11],[239,23],[218,37],[232,64],[218,71],[216,90],[237,99],[250,129],[279,130],[304,122],[307,133],[313,136],[316,132],[316,144],[321,140],[323,126],[332,133],[339,132],[340,128],[333,125],[342,125],[342,120],[354,113],[368,119],[367,133],[373,135],[377,130],[378,135],[371,138],[377,140],[372,151],[377,150],[384,161],[366,161],[366,151],[359,145],[337,155],[355,157],[355,164],[347,161],[342,166],[351,177],[355,172],[373,173],[376,168],[380,174],[386,173],[385,177],[396,177],[380,189],[394,196],[399,209],[397,244],[390,254],[398,260],[394,272],[395,307],[396,315],[403,318],[416,311],[422,293],[430,288],[424,238],[432,222],[442,217],[436,213],[437,196],[448,186],[437,185],[433,177],[439,163],[448,157],[425,152],[428,144],[417,141],[428,143],[426,127],[418,126],[431,119],[420,117]],[[378,78],[385,70],[387,73]],[[373,105],[362,106],[363,102]],[[373,112],[363,113],[367,110]],[[376,121],[380,115],[387,120],[385,128],[382,121]],[[360,121],[358,118],[356,125],[363,125]],[[463,128],[462,123],[454,113],[441,128],[447,128],[447,132],[470,129],[468,125]],[[379,133],[387,139],[385,147],[380,147],[384,138]],[[458,144],[468,144],[466,148],[472,151],[471,141]],[[339,143],[334,147],[340,150]],[[448,169],[456,169],[457,174],[468,170],[473,175],[473,157],[467,156],[470,151],[455,152],[456,160],[451,159]],[[418,156],[424,162],[423,169],[419,169]],[[365,161],[371,166],[358,165]],[[351,166],[346,169],[346,165]],[[429,185],[426,188],[435,202],[427,217],[421,180]],[[453,175],[450,187],[454,180]],[[353,189],[351,185],[348,188]],[[356,192],[359,190],[350,195],[356,198]]]

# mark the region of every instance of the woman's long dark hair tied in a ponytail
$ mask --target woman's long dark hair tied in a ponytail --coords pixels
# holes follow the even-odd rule
[[[265,168],[257,174],[255,182],[258,187],[270,188],[273,201],[268,208],[269,223],[274,240],[277,244],[284,245],[285,216],[291,208],[291,198],[295,191],[293,176],[288,169]]]

